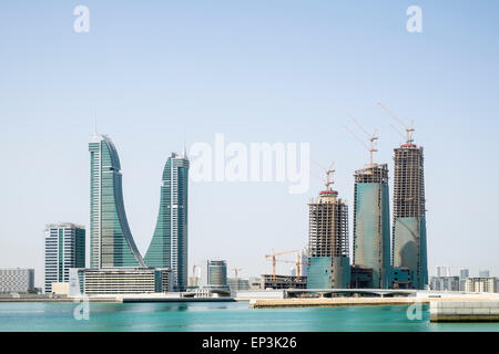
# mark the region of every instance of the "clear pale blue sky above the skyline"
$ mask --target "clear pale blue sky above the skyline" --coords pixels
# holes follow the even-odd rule
[[[78,4],[90,9],[89,33],[73,31]],[[422,33],[406,31],[411,4]],[[309,142],[315,160],[335,160],[335,188],[350,201],[368,154],[343,128],[347,113],[378,128],[375,160],[393,169],[400,138],[380,101],[415,119],[425,147],[430,273],[499,275],[498,17],[497,1],[2,1],[0,267],[33,267],[41,285],[44,225],[89,223],[94,111],[118,147],[144,253],[184,131],[187,146],[215,133]],[[307,202],[323,188],[312,181],[304,195],[191,184],[190,263],[269,272],[266,252],[307,242]]]

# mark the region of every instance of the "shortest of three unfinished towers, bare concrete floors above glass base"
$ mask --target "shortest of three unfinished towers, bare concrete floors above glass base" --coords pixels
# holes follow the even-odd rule
[[[348,207],[332,190],[327,171],[326,190],[308,204],[309,289],[345,289],[350,282]]]

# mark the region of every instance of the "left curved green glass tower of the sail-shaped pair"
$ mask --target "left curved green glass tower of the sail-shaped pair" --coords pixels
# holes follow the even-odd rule
[[[133,241],[123,204],[116,148],[95,134],[90,150],[90,267],[145,267]]]

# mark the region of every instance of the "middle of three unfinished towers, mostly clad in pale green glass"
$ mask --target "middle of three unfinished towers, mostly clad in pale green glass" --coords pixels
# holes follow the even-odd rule
[[[387,289],[391,281],[388,166],[374,164],[371,157],[354,176],[354,266],[373,271],[373,288]]]

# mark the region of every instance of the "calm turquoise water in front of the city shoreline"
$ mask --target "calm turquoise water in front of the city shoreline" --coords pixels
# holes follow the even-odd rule
[[[499,331],[499,323],[429,323],[407,319],[407,306],[248,309],[247,302],[91,303],[75,320],[75,303],[0,303],[0,331]]]

